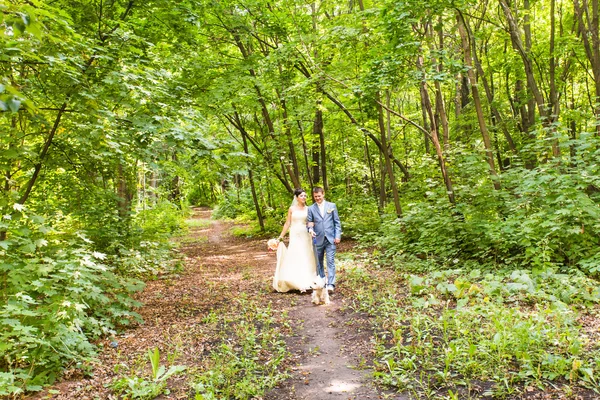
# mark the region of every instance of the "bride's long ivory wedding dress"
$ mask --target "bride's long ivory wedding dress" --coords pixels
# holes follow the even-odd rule
[[[306,230],[308,207],[292,211],[290,247],[283,242],[277,247],[277,268],[273,288],[278,292],[305,291],[317,275],[317,265],[312,249],[312,238]]]

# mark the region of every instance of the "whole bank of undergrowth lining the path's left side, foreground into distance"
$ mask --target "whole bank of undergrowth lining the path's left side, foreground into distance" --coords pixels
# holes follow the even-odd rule
[[[45,218],[19,204],[2,216],[0,396],[39,391],[64,369],[85,371],[94,339],[141,322],[132,295],[142,279],[178,265],[166,238],[183,216],[166,206],[156,212],[107,225],[101,238],[73,218]],[[156,223],[167,214],[169,224]]]

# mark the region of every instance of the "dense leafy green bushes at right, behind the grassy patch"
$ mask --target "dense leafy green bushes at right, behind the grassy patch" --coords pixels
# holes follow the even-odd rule
[[[409,254],[442,267],[473,261],[494,268],[598,271],[600,201],[590,190],[600,185],[595,163],[513,167],[495,191],[488,181],[474,179],[484,168],[480,159],[467,153],[455,162],[463,171],[456,178],[456,207],[447,204],[436,182],[426,182],[426,200],[409,204],[402,219],[383,224],[374,238],[388,256]]]

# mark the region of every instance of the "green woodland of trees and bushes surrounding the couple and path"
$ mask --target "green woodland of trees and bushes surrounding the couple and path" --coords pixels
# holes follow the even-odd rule
[[[138,319],[188,205],[267,237],[320,185],[404,271],[595,279],[598,7],[2,1],[0,394]]]

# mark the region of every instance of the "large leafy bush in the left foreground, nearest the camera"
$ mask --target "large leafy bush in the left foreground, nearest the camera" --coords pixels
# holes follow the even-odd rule
[[[141,320],[130,295],[142,282],[117,275],[83,234],[55,231],[17,206],[0,225],[2,394],[41,389],[63,365],[93,356],[91,338]]]

